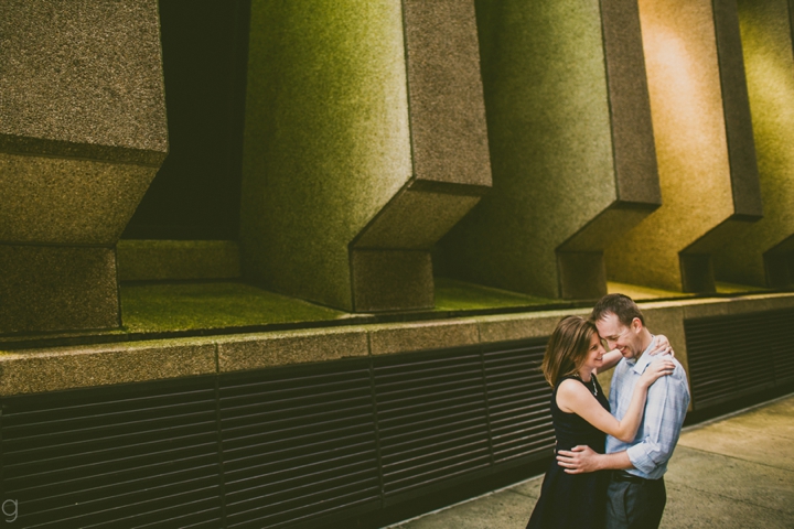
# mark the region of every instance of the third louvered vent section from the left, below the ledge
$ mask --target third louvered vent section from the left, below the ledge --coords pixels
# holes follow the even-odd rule
[[[384,493],[491,465],[479,350],[374,359]]]

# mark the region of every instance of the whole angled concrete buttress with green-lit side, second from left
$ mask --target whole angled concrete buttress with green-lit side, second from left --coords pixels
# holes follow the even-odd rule
[[[430,249],[490,185],[473,2],[253,2],[246,278],[348,311],[432,307]]]

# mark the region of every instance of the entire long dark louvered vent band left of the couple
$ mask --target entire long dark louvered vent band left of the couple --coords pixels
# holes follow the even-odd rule
[[[0,492],[20,528],[339,526],[550,454],[544,342],[2,398]]]

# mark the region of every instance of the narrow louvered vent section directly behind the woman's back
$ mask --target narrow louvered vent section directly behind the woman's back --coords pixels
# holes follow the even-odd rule
[[[548,402],[551,389],[540,371],[546,341],[485,352],[491,434],[496,463],[554,449]]]

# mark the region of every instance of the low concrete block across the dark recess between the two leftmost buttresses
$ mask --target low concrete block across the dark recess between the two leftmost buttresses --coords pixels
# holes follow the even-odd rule
[[[232,240],[119,240],[120,281],[238,278],[239,247]]]

